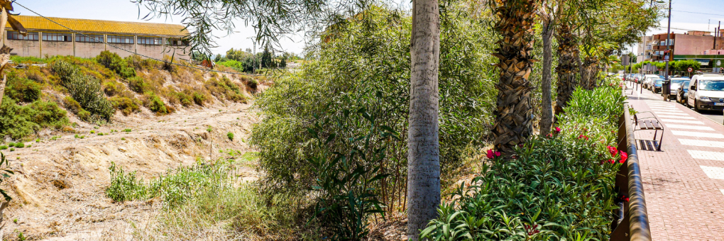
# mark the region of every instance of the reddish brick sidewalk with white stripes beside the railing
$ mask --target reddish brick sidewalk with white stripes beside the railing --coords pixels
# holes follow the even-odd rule
[[[653,240],[724,240],[724,126],[649,90],[628,101],[665,127],[662,151],[641,146],[653,131],[636,131]]]

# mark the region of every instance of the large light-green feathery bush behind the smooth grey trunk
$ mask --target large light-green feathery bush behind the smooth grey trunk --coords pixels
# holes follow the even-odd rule
[[[450,7],[441,20],[439,67],[440,148],[442,174],[462,164],[468,145],[487,140],[492,120],[494,68],[489,56],[493,40],[466,12]],[[376,122],[400,130],[401,140],[391,140],[381,173],[392,174],[384,190],[387,206],[403,195],[406,176],[407,119],[410,81],[411,18],[402,12],[376,7],[355,20],[335,25],[309,55],[299,72],[275,80],[256,101],[264,114],[253,127],[251,143],[260,149],[260,168],[272,190],[299,192],[314,182],[313,168],[305,161],[319,155],[306,130],[316,119],[342,117],[343,109],[367,107]],[[361,117],[350,117],[350,123]],[[350,125],[357,126],[357,125]],[[331,146],[354,138],[336,125]],[[383,143],[374,143],[379,148]],[[340,147],[341,148],[341,147]],[[271,191],[271,190],[270,190]],[[394,193],[394,194],[392,194]]]

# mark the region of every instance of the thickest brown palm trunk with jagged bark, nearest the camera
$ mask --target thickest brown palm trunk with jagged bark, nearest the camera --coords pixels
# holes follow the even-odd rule
[[[504,0],[495,12],[500,20],[494,29],[502,40],[493,54],[499,59],[500,78],[495,85],[498,93],[492,133],[495,149],[504,156],[512,156],[513,147],[525,143],[533,132],[528,77],[535,61],[531,56],[534,0]]]

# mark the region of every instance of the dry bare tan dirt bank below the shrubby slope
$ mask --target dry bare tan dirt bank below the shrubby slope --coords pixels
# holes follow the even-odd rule
[[[252,151],[245,140],[260,119],[251,103],[184,109],[163,117],[117,117],[98,129],[77,122],[75,130],[83,139],[74,138],[75,133],[41,133],[40,143],[26,143],[30,148],[4,151],[13,169],[22,172],[3,184],[14,197],[4,212],[4,240],[17,240],[21,232],[28,240],[99,240],[110,229],[143,225],[153,219],[160,203],[113,203],[107,198],[111,161],[148,179],[193,164],[197,156],[218,158],[219,150]],[[227,132],[234,133],[233,141]],[[53,135],[61,137],[51,140]],[[256,179],[252,169],[243,175]]]

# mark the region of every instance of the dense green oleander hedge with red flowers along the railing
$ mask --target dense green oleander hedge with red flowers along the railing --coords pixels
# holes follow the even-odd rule
[[[516,148],[513,160],[485,162],[478,177],[451,194],[452,203],[440,206],[421,237],[608,240],[621,201],[615,174],[626,157],[608,148],[615,145],[618,119],[607,115],[621,114],[623,98],[607,95],[622,96],[620,88],[601,88],[610,90],[576,90],[571,102],[596,106],[569,105],[560,133]]]

